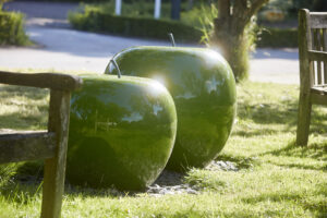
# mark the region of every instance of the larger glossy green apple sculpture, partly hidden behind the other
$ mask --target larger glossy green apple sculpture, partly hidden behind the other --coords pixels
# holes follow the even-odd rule
[[[113,57],[122,75],[150,77],[173,97],[178,133],[168,168],[205,167],[223,148],[237,112],[235,81],[217,52],[203,48],[132,47]],[[109,63],[106,74],[117,74]]]

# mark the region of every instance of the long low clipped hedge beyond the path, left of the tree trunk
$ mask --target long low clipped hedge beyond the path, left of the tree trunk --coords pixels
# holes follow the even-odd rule
[[[199,41],[202,32],[192,26],[169,20],[152,17],[116,16],[99,11],[72,13],[69,20],[73,27],[83,31],[104,32],[123,36],[167,39],[173,33],[178,43]]]

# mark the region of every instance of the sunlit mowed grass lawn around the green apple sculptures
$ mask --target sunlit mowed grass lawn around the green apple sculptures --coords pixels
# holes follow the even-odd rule
[[[46,90],[0,86],[0,129],[46,129]],[[327,217],[327,108],[314,106],[308,147],[295,147],[298,96],[295,85],[239,84],[238,121],[217,160],[240,170],[190,169],[184,182],[198,195],[68,185],[62,217]],[[41,169],[28,165],[0,167],[1,218],[39,216]]]

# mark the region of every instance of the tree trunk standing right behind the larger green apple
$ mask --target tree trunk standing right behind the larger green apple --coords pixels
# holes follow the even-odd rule
[[[253,15],[269,0],[219,0],[211,41],[222,49],[237,81],[249,75],[249,27]]]

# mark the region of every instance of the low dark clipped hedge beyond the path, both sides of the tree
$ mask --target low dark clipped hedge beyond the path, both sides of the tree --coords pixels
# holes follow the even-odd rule
[[[123,36],[168,40],[167,34],[173,33],[177,43],[198,43],[203,36],[199,29],[181,22],[116,16],[93,10],[70,14],[70,22],[77,29]],[[257,31],[257,47],[298,47],[296,28],[261,27],[258,29],[261,31]]]

